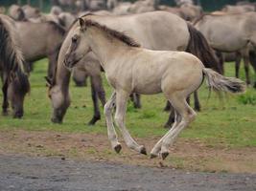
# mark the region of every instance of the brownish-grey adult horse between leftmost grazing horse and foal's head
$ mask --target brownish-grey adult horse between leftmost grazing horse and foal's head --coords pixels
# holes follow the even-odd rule
[[[36,60],[47,57],[49,59],[48,76],[53,77],[65,30],[51,21],[14,22],[14,25],[19,32],[19,46],[26,62],[32,66]]]

